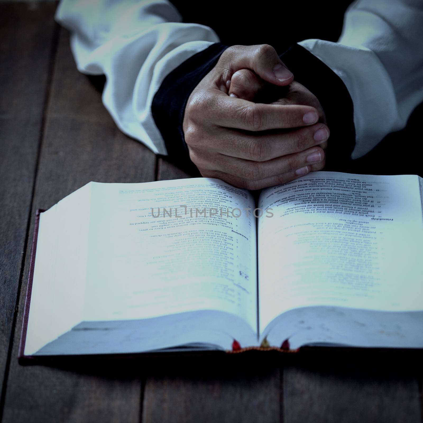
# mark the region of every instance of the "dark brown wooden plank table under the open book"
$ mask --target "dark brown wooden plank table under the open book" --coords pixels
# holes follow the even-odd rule
[[[116,128],[55,8],[0,3],[2,421],[421,422],[421,351],[18,364],[35,210],[88,181],[187,177]]]

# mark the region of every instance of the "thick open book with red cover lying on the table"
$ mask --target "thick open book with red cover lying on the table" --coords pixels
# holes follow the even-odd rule
[[[421,348],[422,187],[314,172],[256,203],[218,179],[90,182],[40,215],[21,356]]]

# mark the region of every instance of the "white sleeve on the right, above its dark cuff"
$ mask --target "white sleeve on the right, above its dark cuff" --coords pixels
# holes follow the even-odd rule
[[[341,77],[351,95],[352,159],[404,128],[423,101],[422,0],[355,1],[337,43],[309,39],[299,44]]]

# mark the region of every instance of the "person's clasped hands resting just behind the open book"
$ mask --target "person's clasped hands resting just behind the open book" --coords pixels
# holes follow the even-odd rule
[[[202,176],[249,190],[323,169],[329,137],[319,100],[267,44],[222,53],[192,91],[183,130]]]

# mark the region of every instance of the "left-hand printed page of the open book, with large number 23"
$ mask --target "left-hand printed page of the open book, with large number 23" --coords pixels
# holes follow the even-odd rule
[[[256,227],[246,208],[251,194],[218,179],[93,183],[84,319],[220,310],[256,333]]]

